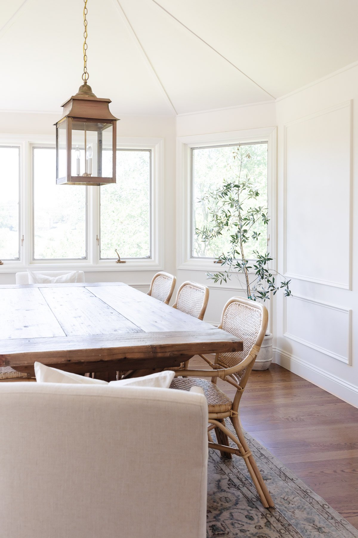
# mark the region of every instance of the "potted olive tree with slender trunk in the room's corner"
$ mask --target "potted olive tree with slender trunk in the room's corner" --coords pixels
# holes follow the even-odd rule
[[[281,288],[285,296],[291,295],[290,280],[270,268],[273,258],[267,252],[265,233],[268,208],[261,205],[259,185],[247,172],[250,166],[245,166],[245,161],[251,159],[247,150],[246,145],[232,148],[222,185],[207,190],[197,201],[205,211],[206,223],[195,228],[195,234],[201,242],[211,245],[211,251],[213,245],[226,247],[221,254],[216,252],[215,261],[221,264],[221,270],[208,272],[209,279],[222,284],[236,277],[248,299],[265,302]],[[220,236],[224,240],[218,241]],[[271,364],[272,338],[271,333],[266,334],[254,370],[266,370]]]

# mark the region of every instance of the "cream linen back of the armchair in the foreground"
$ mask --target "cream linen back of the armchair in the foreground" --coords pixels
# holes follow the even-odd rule
[[[2,536],[206,537],[202,394],[15,382],[0,408]]]

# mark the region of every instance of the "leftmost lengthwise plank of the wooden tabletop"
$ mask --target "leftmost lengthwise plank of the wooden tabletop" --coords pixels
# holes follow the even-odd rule
[[[0,289],[0,338],[64,336],[38,288]]]

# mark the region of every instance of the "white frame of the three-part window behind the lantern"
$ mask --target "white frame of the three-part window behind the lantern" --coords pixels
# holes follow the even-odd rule
[[[117,138],[118,149],[151,150],[151,258],[126,259],[126,264],[100,260],[99,245],[99,187],[87,188],[87,259],[34,260],[33,253],[33,147],[55,147],[55,136],[39,134],[0,134],[0,145],[20,147],[20,240],[19,260],[4,260],[1,273],[30,270],[82,270],[89,272],[160,271],[163,269],[163,138]],[[59,188],[71,189],[70,186]],[[119,209],[120,210],[120,209]],[[1,259],[1,252],[0,252]],[[123,258],[125,259],[125,258]]]

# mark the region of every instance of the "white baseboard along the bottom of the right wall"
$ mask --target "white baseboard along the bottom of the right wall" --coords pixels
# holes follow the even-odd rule
[[[276,364],[323,388],[323,390],[344,400],[347,404],[358,407],[358,387],[356,385],[352,385],[344,379],[333,376],[330,372],[314,366],[295,355],[291,355],[291,353],[283,351],[280,348],[274,348],[274,355]]]

